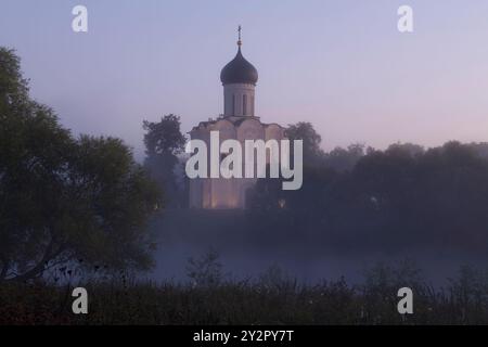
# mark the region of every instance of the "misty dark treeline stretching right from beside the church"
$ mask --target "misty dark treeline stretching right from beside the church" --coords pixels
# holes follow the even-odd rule
[[[283,191],[278,180],[262,179],[251,194],[249,218],[260,236],[383,252],[488,249],[488,144],[354,145],[323,153],[310,132],[310,124],[298,124],[290,133],[304,139],[303,188]]]

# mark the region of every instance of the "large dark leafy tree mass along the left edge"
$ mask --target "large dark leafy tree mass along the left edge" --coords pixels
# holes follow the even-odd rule
[[[121,140],[74,138],[0,49],[0,282],[74,259],[147,269],[158,190]]]

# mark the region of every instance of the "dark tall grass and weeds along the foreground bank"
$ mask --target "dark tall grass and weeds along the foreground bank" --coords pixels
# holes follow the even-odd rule
[[[278,267],[231,280],[204,262],[190,262],[187,283],[87,279],[76,285],[89,293],[88,314],[72,312],[72,283],[4,283],[0,324],[488,324],[488,275],[467,267],[434,288],[409,264],[377,265],[359,285],[304,285]],[[413,314],[397,311],[402,286],[413,290]]]

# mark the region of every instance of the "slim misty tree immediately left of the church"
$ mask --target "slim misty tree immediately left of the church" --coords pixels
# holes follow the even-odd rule
[[[166,115],[157,123],[144,120],[145,167],[151,177],[164,190],[167,203],[170,206],[181,206],[185,194],[184,180],[177,175],[181,154],[187,141],[180,130],[180,117],[174,114]],[[183,188],[181,188],[183,187]]]

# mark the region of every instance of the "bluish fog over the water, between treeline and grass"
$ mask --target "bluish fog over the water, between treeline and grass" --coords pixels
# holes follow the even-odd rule
[[[382,262],[396,266],[403,260],[413,261],[423,279],[434,285],[448,283],[460,266],[468,265],[486,269],[488,261],[480,255],[457,249],[425,248],[422,245],[400,252],[383,252],[381,241],[376,249],[362,248],[360,244],[349,249],[335,249],[326,244],[304,240],[303,242],[277,237],[259,241],[245,230],[244,213],[204,213],[168,210],[154,223],[158,243],[155,252],[156,266],[149,274],[156,281],[188,281],[187,266],[190,257],[201,257],[210,249],[216,250],[229,279],[258,278],[273,266],[280,267],[290,278],[300,283],[313,284],[322,280],[338,280],[344,277],[349,283],[363,280],[365,270]],[[220,216],[219,216],[220,215]]]

